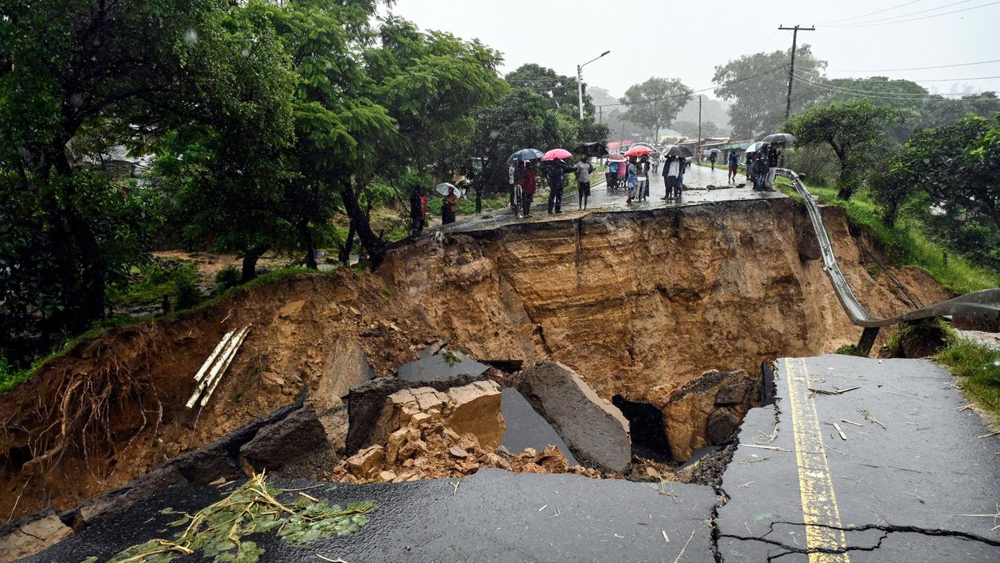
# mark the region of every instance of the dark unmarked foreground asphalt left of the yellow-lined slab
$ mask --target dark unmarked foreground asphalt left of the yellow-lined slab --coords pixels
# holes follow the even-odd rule
[[[648,483],[499,469],[451,481],[274,484],[314,487],[308,489],[311,496],[341,505],[374,500],[378,509],[358,532],[307,548],[293,547],[271,533],[254,535],[253,541],[265,550],[261,563],[313,563],[320,560],[316,554],[351,563],[673,561],[682,549],[681,561],[713,561],[707,519],[716,498],[712,489],[700,485],[670,484],[667,495]],[[171,489],[24,561],[77,563],[91,556],[106,561],[132,545],[172,537],[176,531],[167,524],[176,515],[161,510],[194,512],[222,498],[232,486]],[[182,560],[211,561],[201,554]]]

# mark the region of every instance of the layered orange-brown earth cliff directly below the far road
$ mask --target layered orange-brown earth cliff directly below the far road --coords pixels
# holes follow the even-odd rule
[[[843,210],[824,213],[855,293],[875,314],[906,310],[869,276]],[[596,214],[424,240],[379,273],[474,357],[551,358],[606,398],[641,397],[857,342],[818,253],[804,257],[807,224],[790,199]]]

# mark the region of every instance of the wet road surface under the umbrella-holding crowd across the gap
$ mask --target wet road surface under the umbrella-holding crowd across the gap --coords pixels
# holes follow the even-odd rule
[[[445,233],[463,233],[472,231],[482,231],[495,229],[515,223],[540,223],[554,219],[566,220],[582,217],[588,213],[607,213],[623,211],[647,211],[652,209],[669,209],[688,205],[701,205],[706,203],[719,203],[723,201],[747,201],[758,199],[773,199],[787,197],[781,192],[755,192],[750,187],[736,187],[746,182],[746,178],[740,174],[733,184],[726,182],[727,171],[721,167],[715,170],[703,166],[690,166],[684,174],[685,190],[681,194],[680,200],[664,201],[660,198],[665,193],[663,176],[660,174],[649,175],[650,189],[649,199],[635,201],[626,204],[627,193],[624,189],[609,191],[601,183],[591,188],[591,195],[588,201],[587,210],[581,211],[579,207],[579,196],[574,191],[568,193],[562,200],[562,213],[559,215],[548,215],[548,194],[542,193],[535,196],[532,203],[530,218],[516,219],[511,214],[510,209],[496,210],[484,215],[463,219],[444,228]],[[568,176],[572,178],[572,176]],[[709,187],[713,189],[709,189]],[[434,230],[427,231],[424,236],[432,236]]]

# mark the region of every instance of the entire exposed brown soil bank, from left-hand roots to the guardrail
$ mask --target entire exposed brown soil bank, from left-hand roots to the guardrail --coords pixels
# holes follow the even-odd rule
[[[865,305],[907,309],[869,276],[843,211],[824,220]],[[338,337],[360,344],[376,376],[441,336],[474,358],[557,360],[606,399],[650,402],[709,369],[831,352],[861,331],[801,250],[807,223],[778,199],[427,237],[391,251],[375,274],[289,277],[109,330],[4,397],[0,506],[15,517],[68,508],[287,404],[316,388]],[[184,408],[193,374],[247,324],[195,417]]]

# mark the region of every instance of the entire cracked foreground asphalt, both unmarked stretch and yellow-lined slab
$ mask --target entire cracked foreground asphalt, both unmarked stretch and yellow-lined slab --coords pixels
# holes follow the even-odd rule
[[[717,489],[499,469],[400,484],[278,480],[379,509],[359,532],[308,548],[254,537],[260,561],[1000,561],[1000,438],[960,410],[945,369],[840,355],[777,365],[776,402],[748,413]],[[168,538],[163,508],[194,511],[228,490],[170,489],[25,561],[105,561]]]

